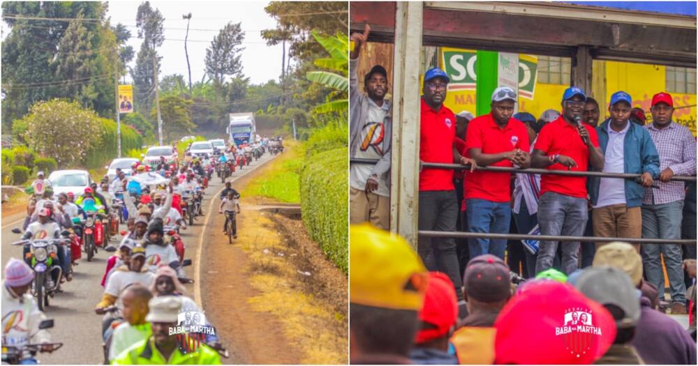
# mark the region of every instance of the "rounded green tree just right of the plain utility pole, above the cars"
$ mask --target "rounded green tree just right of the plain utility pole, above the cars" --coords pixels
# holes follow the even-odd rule
[[[190,135],[196,128],[191,123],[191,100],[186,100],[180,96],[165,96],[160,98],[160,111],[163,119],[163,133],[166,141],[172,141],[175,137]],[[150,112],[153,119],[157,116],[157,111],[153,108]]]

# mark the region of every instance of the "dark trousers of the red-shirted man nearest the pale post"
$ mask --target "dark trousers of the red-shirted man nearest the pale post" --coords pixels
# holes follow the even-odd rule
[[[453,190],[419,192],[419,230],[456,231],[458,202]],[[417,252],[428,270],[438,270],[451,279],[459,300],[463,299],[463,280],[459,273],[454,238],[419,236]],[[432,254],[431,256],[429,254]],[[433,260],[429,260],[429,259]]]

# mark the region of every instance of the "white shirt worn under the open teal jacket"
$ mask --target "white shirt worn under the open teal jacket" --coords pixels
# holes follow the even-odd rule
[[[604,153],[604,173],[623,173],[625,170],[625,135],[630,130],[630,121],[625,123],[625,128],[621,132],[616,132],[608,124],[609,142]],[[611,206],[614,204],[625,204],[625,179],[623,178],[601,178],[599,183],[599,198],[594,208]]]

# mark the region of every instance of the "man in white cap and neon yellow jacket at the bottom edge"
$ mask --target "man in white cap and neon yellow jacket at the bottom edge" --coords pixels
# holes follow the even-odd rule
[[[114,359],[113,365],[220,365],[221,357],[206,344],[184,354],[176,334],[181,301],[175,296],[159,296],[148,303],[150,312],[145,320],[151,323],[152,334]]]

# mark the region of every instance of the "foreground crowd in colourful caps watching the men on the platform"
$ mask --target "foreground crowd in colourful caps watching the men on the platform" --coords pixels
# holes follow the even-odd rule
[[[570,275],[551,268],[518,283],[480,254],[456,289],[396,234],[352,224],[350,242],[351,364],[696,364],[695,290],[685,330],[657,310],[629,243],[599,247]],[[695,279],[696,261],[683,266]]]

